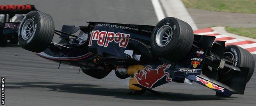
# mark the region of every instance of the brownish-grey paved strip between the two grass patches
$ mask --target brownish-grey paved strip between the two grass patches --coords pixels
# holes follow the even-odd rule
[[[256,27],[256,14],[187,9],[199,29],[213,26]]]

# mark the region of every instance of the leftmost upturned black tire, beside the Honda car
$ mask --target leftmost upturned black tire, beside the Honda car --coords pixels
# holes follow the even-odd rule
[[[29,29],[32,34],[28,37],[22,34],[28,28],[26,25],[29,24],[26,22],[32,22],[31,26],[34,26],[33,29]],[[50,15],[40,11],[30,11],[21,21],[18,31],[18,42],[23,49],[37,53],[42,52],[53,40],[54,29],[55,25]]]

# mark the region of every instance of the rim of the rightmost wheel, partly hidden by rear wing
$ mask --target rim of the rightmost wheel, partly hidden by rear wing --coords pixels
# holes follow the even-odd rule
[[[223,59],[225,60],[225,62],[226,62],[227,64],[234,66],[234,64],[235,64],[235,56],[233,55],[233,53],[231,53],[231,52],[225,52]],[[219,72],[222,73],[222,74],[226,74],[226,73],[229,73],[229,71],[231,71],[230,68],[224,67],[224,68],[223,68],[221,71],[219,71]]]

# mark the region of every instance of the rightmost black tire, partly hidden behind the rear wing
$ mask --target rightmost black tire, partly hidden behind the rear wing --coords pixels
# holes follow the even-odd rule
[[[247,82],[251,79],[251,76],[254,73],[255,64],[254,57],[249,53],[249,51],[242,49],[237,45],[228,45],[225,47],[224,58],[230,60],[229,62],[226,61],[229,65],[249,68]],[[225,67],[220,70],[219,73],[226,79],[232,78],[232,75],[235,74],[234,71]]]

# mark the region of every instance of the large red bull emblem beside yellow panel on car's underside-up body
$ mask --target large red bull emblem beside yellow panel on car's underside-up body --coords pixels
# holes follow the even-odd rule
[[[142,71],[135,73],[134,77],[140,85],[146,88],[152,88],[152,86],[163,77],[166,77],[165,80],[167,82],[171,82],[172,79],[170,78],[169,73],[165,72],[170,66],[171,64],[163,64],[156,69],[152,69],[152,67],[148,65]]]

